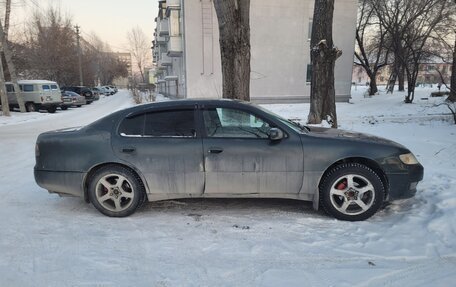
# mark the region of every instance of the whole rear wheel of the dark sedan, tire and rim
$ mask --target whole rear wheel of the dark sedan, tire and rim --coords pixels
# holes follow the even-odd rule
[[[100,168],[89,180],[90,202],[110,217],[133,214],[145,200],[141,179],[130,169],[108,165]]]

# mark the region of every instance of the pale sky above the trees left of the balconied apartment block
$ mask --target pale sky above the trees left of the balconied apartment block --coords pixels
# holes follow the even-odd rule
[[[60,7],[73,23],[81,27],[83,37],[95,33],[114,52],[128,50],[127,33],[139,26],[152,42],[158,0],[13,0],[13,24],[26,22],[33,11],[45,11],[49,5]],[[2,9],[3,10],[3,9]]]

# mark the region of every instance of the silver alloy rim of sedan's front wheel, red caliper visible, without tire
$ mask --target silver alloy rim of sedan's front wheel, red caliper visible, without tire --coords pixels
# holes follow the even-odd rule
[[[334,181],[329,191],[332,206],[345,215],[368,211],[375,200],[375,189],[364,176],[347,174]]]

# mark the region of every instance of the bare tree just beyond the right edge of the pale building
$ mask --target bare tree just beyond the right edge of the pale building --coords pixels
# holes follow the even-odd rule
[[[361,0],[356,26],[355,65],[364,68],[369,76],[369,95],[378,92],[378,71],[388,65],[387,31],[378,23],[371,0]]]

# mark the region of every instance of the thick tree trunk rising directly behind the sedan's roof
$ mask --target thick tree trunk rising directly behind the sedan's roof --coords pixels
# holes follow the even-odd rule
[[[223,97],[250,101],[250,0],[214,0],[220,31]]]

